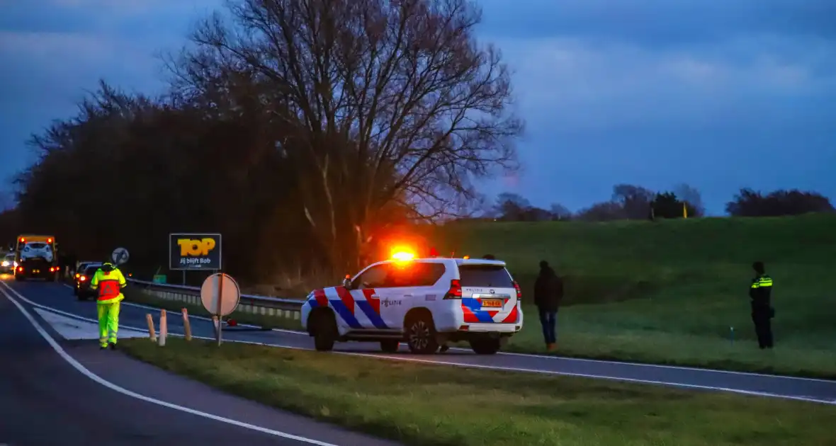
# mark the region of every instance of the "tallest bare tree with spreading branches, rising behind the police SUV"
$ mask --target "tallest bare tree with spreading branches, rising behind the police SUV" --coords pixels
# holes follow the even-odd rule
[[[290,129],[278,142],[334,266],[353,266],[377,213],[457,210],[472,180],[517,167],[523,131],[500,53],[467,0],[242,0],[201,23],[179,87],[243,73]],[[350,242],[347,242],[351,240]]]

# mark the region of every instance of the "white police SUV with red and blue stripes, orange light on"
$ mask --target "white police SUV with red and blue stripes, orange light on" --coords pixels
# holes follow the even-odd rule
[[[343,286],[311,291],[302,325],[319,351],[334,342],[380,342],[396,352],[431,354],[467,341],[478,354],[499,351],[523,327],[521,292],[504,261],[424,258],[379,261]]]

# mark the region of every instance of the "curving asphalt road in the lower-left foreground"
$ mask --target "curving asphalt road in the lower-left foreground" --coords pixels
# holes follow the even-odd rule
[[[74,303],[79,315],[94,312],[58,284],[22,288],[37,301]],[[125,322],[145,317],[131,310]],[[64,340],[0,283],[0,444],[394,444],[221,393],[96,344]]]

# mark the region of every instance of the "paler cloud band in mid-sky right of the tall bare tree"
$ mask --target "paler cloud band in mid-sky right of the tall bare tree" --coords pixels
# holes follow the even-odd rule
[[[498,42],[512,67],[529,119],[563,128],[627,125],[707,125],[735,122],[784,125],[829,119],[834,107],[814,104],[836,92],[836,44],[803,41],[818,50],[783,56],[752,42],[730,42],[702,52],[654,51],[577,38]],[[749,48],[748,58],[727,53]],[[832,63],[823,62],[831,58]]]

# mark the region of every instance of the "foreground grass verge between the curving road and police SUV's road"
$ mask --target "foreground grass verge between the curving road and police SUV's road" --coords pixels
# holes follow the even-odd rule
[[[833,444],[836,407],[823,404],[173,337],[121,344],[227,392],[413,445]]]

